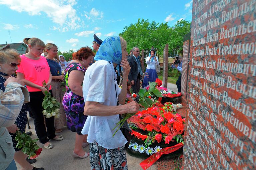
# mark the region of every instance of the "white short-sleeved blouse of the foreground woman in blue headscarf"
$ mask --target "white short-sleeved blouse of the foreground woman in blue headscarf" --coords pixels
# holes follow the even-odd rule
[[[115,80],[114,80],[115,78]],[[84,101],[96,101],[107,106],[116,106],[117,95],[121,88],[116,82],[116,72],[113,64],[105,60],[99,60],[92,64],[85,72],[83,81]],[[116,88],[116,90],[115,90]],[[112,116],[88,116],[82,134],[88,134],[87,142],[96,141],[100,146],[107,149],[122,147],[127,143],[124,135],[119,129],[113,128],[119,122],[119,115]]]

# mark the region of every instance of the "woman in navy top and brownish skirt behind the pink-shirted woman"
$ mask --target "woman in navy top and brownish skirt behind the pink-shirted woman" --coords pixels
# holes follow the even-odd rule
[[[64,87],[61,85],[61,82],[64,81],[64,76],[61,75],[61,68],[59,65],[59,61],[55,59],[58,54],[58,47],[55,44],[47,43],[45,45],[45,52],[47,52],[46,60],[50,67],[50,72],[52,74],[52,96],[56,98],[59,103],[62,103],[62,98],[65,94],[63,90]],[[56,129],[56,133],[62,131],[62,127],[66,126],[66,116],[63,109],[62,104],[60,105],[60,117],[55,117],[54,127]]]

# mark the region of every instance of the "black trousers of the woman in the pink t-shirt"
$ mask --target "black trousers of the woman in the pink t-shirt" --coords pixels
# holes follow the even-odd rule
[[[52,91],[50,90],[50,92]],[[54,128],[54,116],[46,118],[42,113],[42,102],[44,99],[44,94],[42,93],[42,91],[29,92],[29,95],[30,102],[28,103],[28,107],[34,116],[36,134],[39,138],[39,142],[44,144],[48,142],[49,139],[53,139],[56,136]],[[47,130],[45,129],[45,125]]]

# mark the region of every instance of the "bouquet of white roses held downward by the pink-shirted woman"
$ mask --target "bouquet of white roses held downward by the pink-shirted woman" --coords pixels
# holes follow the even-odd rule
[[[45,81],[43,82],[43,85],[46,85]],[[46,118],[50,118],[54,116],[55,118],[60,117],[60,103],[57,102],[57,100],[51,95],[49,91],[44,92],[44,100],[42,103],[43,106],[43,115],[45,115]]]

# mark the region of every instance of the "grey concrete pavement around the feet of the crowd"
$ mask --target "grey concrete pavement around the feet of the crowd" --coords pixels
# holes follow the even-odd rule
[[[32,139],[37,138],[35,128],[34,128],[34,119],[29,118],[29,124],[31,129],[26,127],[26,131],[32,131]],[[45,170],[90,170],[90,158],[85,159],[73,158],[72,152],[75,143],[75,132],[71,132],[67,127],[63,128],[63,131],[56,133],[57,135],[62,135],[64,139],[62,141],[52,140],[53,148],[45,149],[43,144],[38,142],[39,147],[42,147],[43,150],[41,154],[36,158],[37,162],[32,164],[35,167],[44,167]],[[85,152],[89,151],[89,146],[84,148]],[[136,158],[130,156],[128,153],[127,162],[129,170],[142,170],[140,163],[144,160],[141,158]],[[17,164],[17,168],[20,169],[20,165]],[[156,163],[152,165],[148,170],[156,170]]]

